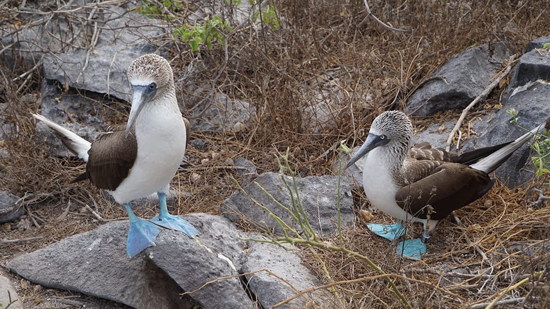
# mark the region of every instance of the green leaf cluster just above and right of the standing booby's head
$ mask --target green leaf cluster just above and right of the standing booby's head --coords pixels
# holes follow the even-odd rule
[[[203,45],[206,45],[208,49],[212,49],[213,43],[216,42],[225,47],[225,33],[231,30],[233,30],[233,27],[229,24],[228,20],[222,20],[217,15],[212,18],[207,16],[202,24],[194,26],[184,24],[174,29],[174,38],[180,38],[183,42],[188,43],[191,50],[196,52]]]

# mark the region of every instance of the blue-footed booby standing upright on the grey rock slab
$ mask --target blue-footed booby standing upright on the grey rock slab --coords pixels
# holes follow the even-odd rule
[[[93,143],[37,114],[63,144],[86,161],[86,172],[74,182],[90,179],[123,204],[130,218],[127,252],[134,257],[149,246],[161,227],[193,238],[199,235],[189,222],[168,214],[166,192],[185,153],[186,130],[175,95],[172,68],[159,55],[147,54],[131,63],[128,82],[132,105],[128,123],[111,127]],[[138,218],[130,201],[157,192],[160,214]]]

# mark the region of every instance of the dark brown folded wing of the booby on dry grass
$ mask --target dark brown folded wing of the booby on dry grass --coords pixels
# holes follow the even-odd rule
[[[430,164],[423,163],[430,161],[417,162],[421,165],[417,168],[426,172],[425,177],[411,179],[397,192],[395,200],[418,218],[425,219],[430,212],[432,220],[441,220],[453,210],[481,198],[494,183],[485,172],[467,165],[440,162],[430,168]]]

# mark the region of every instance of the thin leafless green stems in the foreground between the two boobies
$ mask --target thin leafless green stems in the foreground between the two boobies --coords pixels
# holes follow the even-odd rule
[[[341,147],[340,150],[341,151],[340,151],[340,163],[339,163],[339,168],[338,168],[339,169],[339,172],[338,172],[338,178],[339,179],[338,179],[338,188],[337,188],[338,189],[338,205],[340,205],[340,194],[339,194],[340,188],[339,187],[340,187],[340,178],[342,178],[341,153],[342,153],[342,151],[349,151],[349,148],[342,147],[342,145],[345,146],[345,141],[340,142],[340,147]],[[298,224],[300,225],[300,228],[303,231],[303,233],[300,233],[300,232],[296,231],[294,228],[290,227],[290,225],[287,224],[286,222],[284,222],[281,219],[281,217],[277,216],[276,214],[273,213],[273,211],[271,211],[266,206],[262,205],[257,200],[252,198],[252,196],[250,196],[248,193],[245,192],[243,187],[240,186],[240,184],[236,181],[236,179],[234,179],[235,183],[237,183],[237,186],[239,187],[241,192],[243,192],[243,194],[245,194],[252,201],[252,203],[256,204],[257,206],[261,207],[261,209],[265,210],[277,222],[277,225],[279,226],[279,228],[281,228],[281,230],[283,232],[283,236],[281,236],[281,237],[271,235],[268,239],[246,239],[246,240],[252,240],[252,241],[257,241],[257,242],[260,242],[260,243],[270,243],[270,244],[278,245],[278,246],[281,246],[285,250],[290,250],[290,249],[288,248],[288,246],[284,246],[284,244],[290,244],[292,246],[295,246],[296,244],[302,244],[302,245],[306,246],[306,248],[310,250],[310,252],[313,254],[315,259],[322,266],[324,276],[326,276],[327,279],[329,280],[329,282],[331,283],[331,284],[329,284],[329,290],[331,290],[331,292],[335,295],[338,295],[338,291],[335,288],[335,285],[337,285],[338,283],[334,282],[332,280],[331,274],[328,272],[328,269],[326,267],[326,263],[324,263],[321,256],[318,254],[317,248],[324,249],[324,250],[329,250],[329,251],[333,251],[333,252],[342,252],[346,255],[353,256],[357,260],[360,260],[362,262],[367,263],[368,266],[370,266],[372,269],[375,269],[375,271],[379,273],[379,278],[382,278],[382,279],[386,280],[386,282],[389,284],[390,288],[393,290],[395,295],[402,302],[403,307],[412,308],[411,305],[409,304],[408,300],[406,299],[406,297],[403,294],[401,294],[401,292],[399,291],[399,289],[395,285],[395,283],[392,279],[392,276],[394,276],[393,274],[388,274],[388,273],[384,272],[374,262],[372,262],[370,259],[368,259],[368,257],[366,257],[364,255],[361,255],[357,252],[354,252],[354,251],[351,251],[349,249],[344,248],[343,242],[342,242],[342,232],[341,232],[342,229],[340,227],[340,220],[338,220],[338,223],[337,223],[338,224],[338,232],[339,232],[339,240],[340,240],[339,241],[339,246],[331,245],[331,244],[327,243],[326,241],[322,241],[321,239],[319,239],[319,237],[317,236],[317,234],[315,233],[315,231],[311,227],[311,225],[309,223],[309,220],[308,220],[308,218],[305,214],[305,211],[302,207],[301,200],[300,200],[300,194],[299,194],[299,190],[298,190],[298,184],[296,183],[295,174],[294,174],[294,171],[292,170],[292,168],[290,168],[290,165],[288,163],[289,152],[290,152],[290,149],[287,149],[287,153],[284,156],[282,156],[283,160],[281,161],[281,160],[278,159],[277,161],[278,161],[278,164],[279,164],[279,175],[281,175],[283,183],[285,184],[285,187],[287,188],[287,190],[290,194],[290,204],[291,205],[289,205],[289,206],[283,205],[281,202],[279,202],[277,199],[275,199],[273,195],[268,193],[266,189],[264,189],[262,186],[260,186],[260,184],[256,183],[256,186],[258,186],[262,190],[262,192],[265,193],[278,207],[281,207],[285,212],[287,212],[293,218],[294,221],[298,222]],[[292,178],[292,182],[287,181],[287,179],[285,177],[285,173],[289,174],[289,176]],[[340,216],[340,207],[338,206],[338,217],[339,216]],[[304,295],[302,295],[302,296],[305,297]]]

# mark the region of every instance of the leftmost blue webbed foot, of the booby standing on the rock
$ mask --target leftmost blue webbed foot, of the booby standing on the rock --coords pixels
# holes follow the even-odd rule
[[[155,239],[162,229],[147,220],[138,218],[132,211],[130,204],[124,204],[124,208],[130,218],[126,252],[128,252],[131,259],[146,248],[154,246]]]

